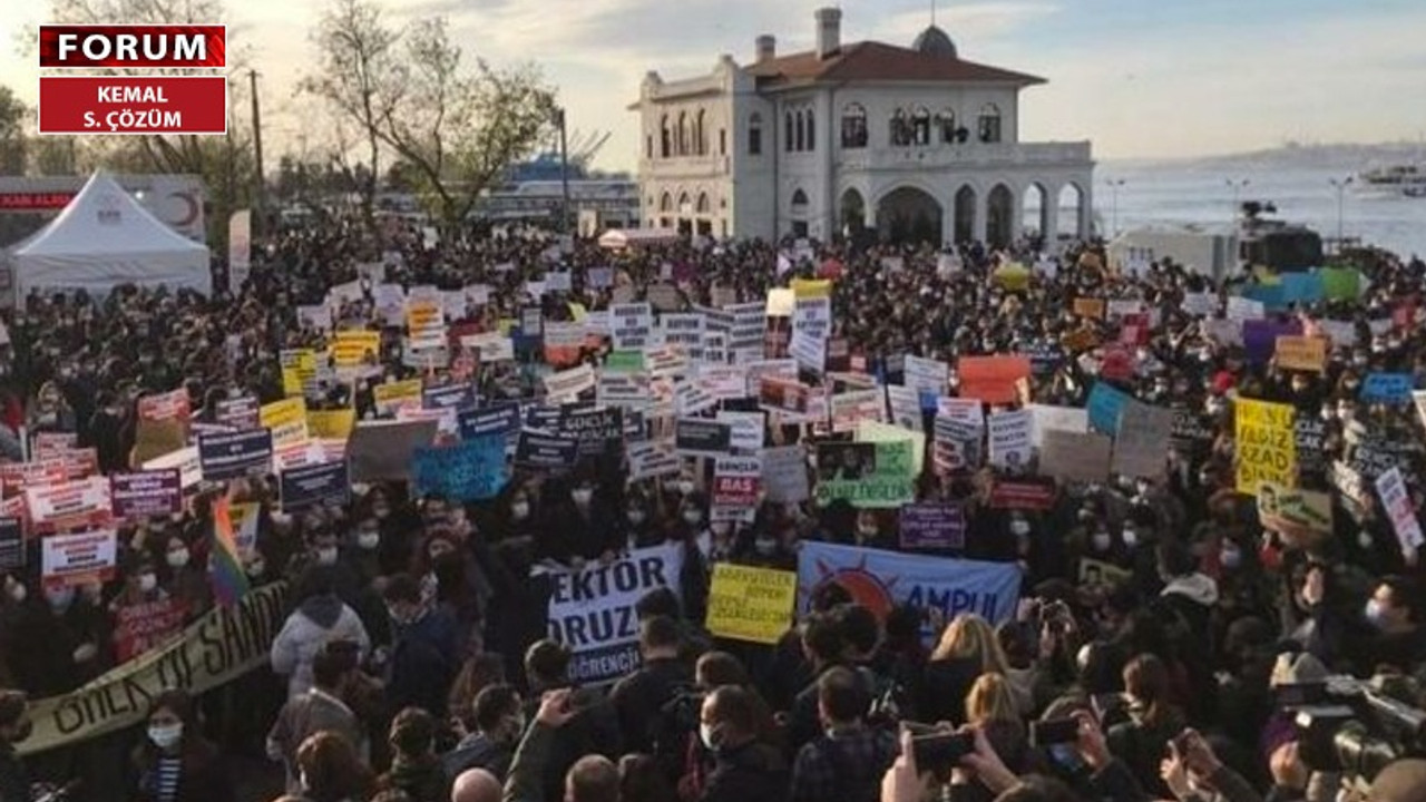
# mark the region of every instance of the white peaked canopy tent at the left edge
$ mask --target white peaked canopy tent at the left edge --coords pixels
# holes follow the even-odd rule
[[[64,211],[10,251],[14,297],[31,290],[107,295],[121,284],[212,293],[208,248],[160,223],[108,173],[94,173]]]

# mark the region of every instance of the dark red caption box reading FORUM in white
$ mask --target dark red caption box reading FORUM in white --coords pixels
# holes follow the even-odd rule
[[[40,26],[41,67],[225,67],[227,26]]]

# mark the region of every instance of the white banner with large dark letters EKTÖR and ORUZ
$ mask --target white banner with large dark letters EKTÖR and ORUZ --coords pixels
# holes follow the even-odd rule
[[[635,604],[650,591],[679,591],[683,545],[630,551],[607,565],[553,571],[549,635],[569,649],[569,679],[596,685],[639,668],[639,616]]]

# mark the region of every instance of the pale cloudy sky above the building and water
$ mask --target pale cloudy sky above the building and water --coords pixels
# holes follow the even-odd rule
[[[706,73],[719,54],[750,60],[813,41],[816,0],[384,0],[398,21],[449,17],[466,56],[533,60],[558,86],[572,130],[612,131],[596,166],[632,168],[647,70]],[[43,3],[0,0],[0,83],[34,100],[36,57],[13,41]],[[228,0],[230,47],[262,73],[265,148],[307,126],[292,100],[315,63],[308,31],[322,0]],[[921,0],[846,0],[843,41],[910,44]],[[123,20],[116,20],[123,21]],[[1420,0],[941,0],[937,21],[963,59],[1050,80],[1021,96],[1021,138],[1094,141],[1097,158],[1184,157],[1305,143],[1426,137],[1426,3]],[[275,156],[268,166],[275,164]]]

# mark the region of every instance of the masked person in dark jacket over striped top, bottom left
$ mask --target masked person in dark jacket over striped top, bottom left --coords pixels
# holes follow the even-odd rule
[[[234,782],[220,752],[202,738],[187,691],[158,694],[148,708],[144,742],[134,751],[140,802],[234,802]]]

